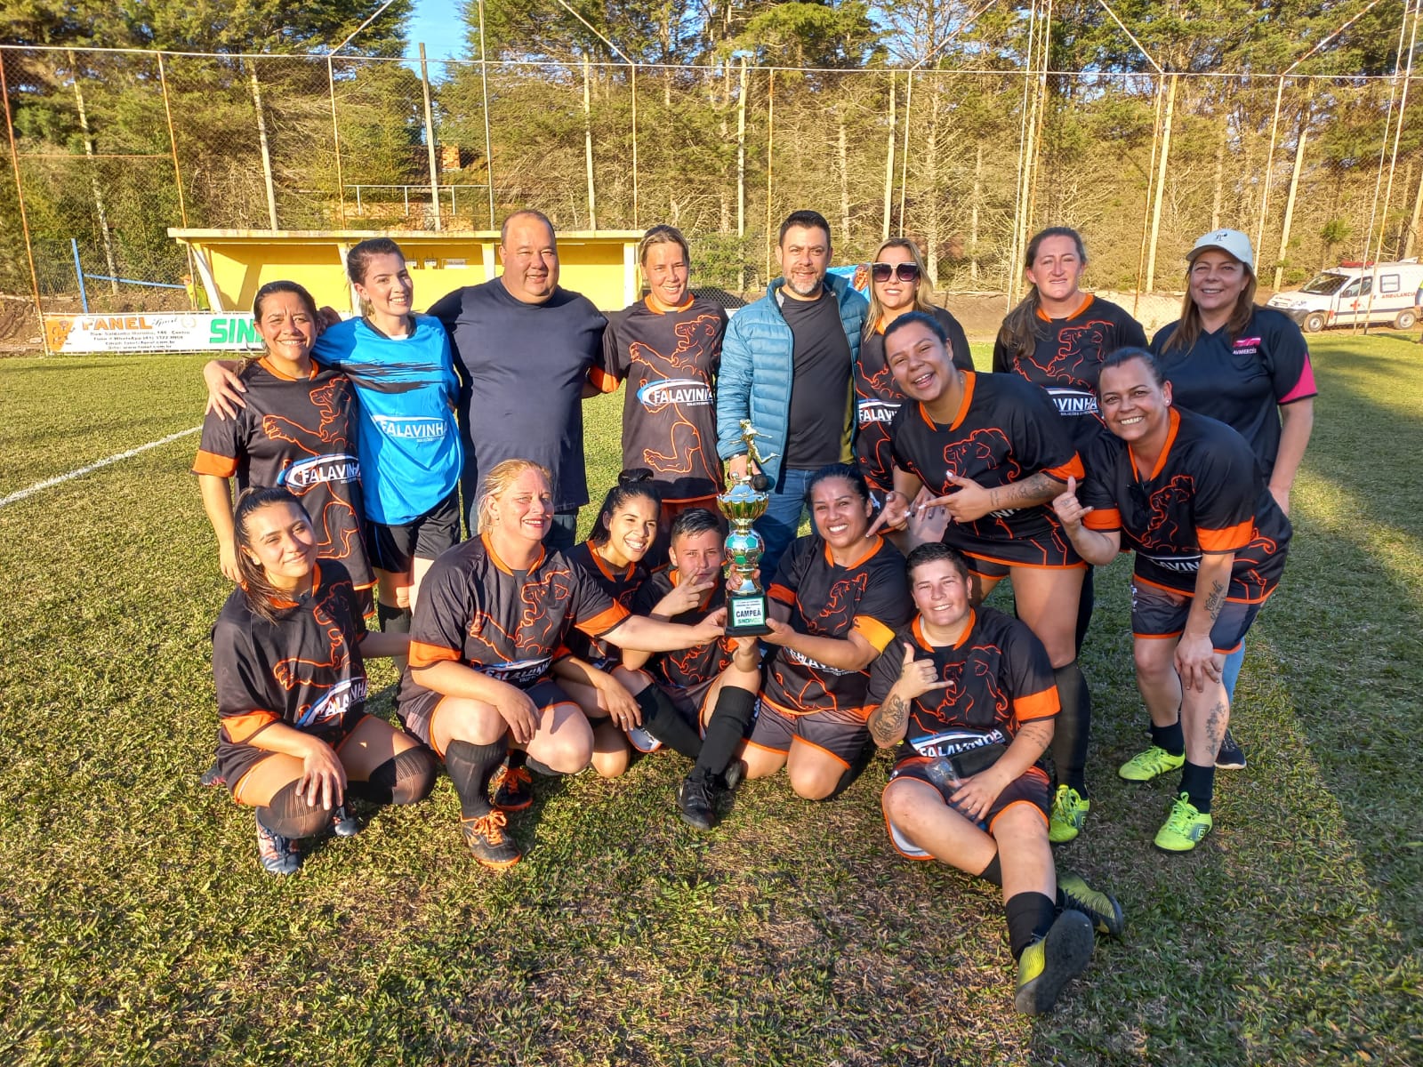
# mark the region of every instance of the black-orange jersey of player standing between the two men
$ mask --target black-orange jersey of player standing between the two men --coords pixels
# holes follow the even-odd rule
[[[666,313],[649,297],[608,319],[606,374],[595,373],[593,380],[606,391],[628,381],[623,469],[650,468],[665,502],[721,491],[712,381],[726,323],[726,312],[700,297]]]

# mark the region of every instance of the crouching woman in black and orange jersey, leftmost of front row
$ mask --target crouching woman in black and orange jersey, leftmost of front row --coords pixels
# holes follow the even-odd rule
[[[283,488],[245,489],[232,515],[238,579],[212,627],[218,770],[256,808],[272,874],[302,864],[300,838],[356,832],[347,794],[414,804],[434,784],[430,754],[366,714],[364,656],[398,656],[404,636],[367,633],[350,575],[317,562],[316,534]]]

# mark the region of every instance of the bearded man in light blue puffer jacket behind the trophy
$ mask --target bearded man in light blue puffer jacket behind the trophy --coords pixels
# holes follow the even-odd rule
[[[766,542],[766,585],[795,538],[810,475],[825,464],[854,462],[851,371],[869,304],[848,279],[827,277],[830,255],[825,216],[791,213],[776,249],[783,277],[731,317],[721,344],[716,423],[727,472],[747,471],[743,418],[764,437],[758,451],[771,501],[756,531]]]

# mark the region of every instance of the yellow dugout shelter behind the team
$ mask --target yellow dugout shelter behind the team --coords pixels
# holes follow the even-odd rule
[[[502,272],[498,230],[259,230],[169,229],[185,245],[213,312],[252,312],[268,282],[287,279],[310,290],[317,304],[359,312],[346,279],[346,253],[367,238],[390,238],[406,253],[416,283],[416,307],[478,285]],[[640,230],[568,230],[558,235],[559,285],[603,310],[626,307],[639,296]]]

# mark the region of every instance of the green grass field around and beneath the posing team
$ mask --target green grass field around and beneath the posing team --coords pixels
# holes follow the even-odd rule
[[[196,437],[0,508],[0,1060],[481,1064],[1423,1063],[1423,350],[1313,339],[1322,396],[1296,538],[1257,625],[1217,829],[1151,848],[1127,566],[1097,578],[1087,831],[1059,852],[1121,899],[1054,1014],[1012,1010],[999,902],[891,849],[884,755],[838,801],[751,782],[712,834],[676,757],[541,780],[527,859],[477,868],[441,778],[256,862],[198,774],[226,588]],[[980,353],[980,359],[983,359]],[[0,360],[0,497],[195,425],[196,357]],[[615,403],[589,405],[591,481]],[[376,710],[390,714],[388,664]]]

